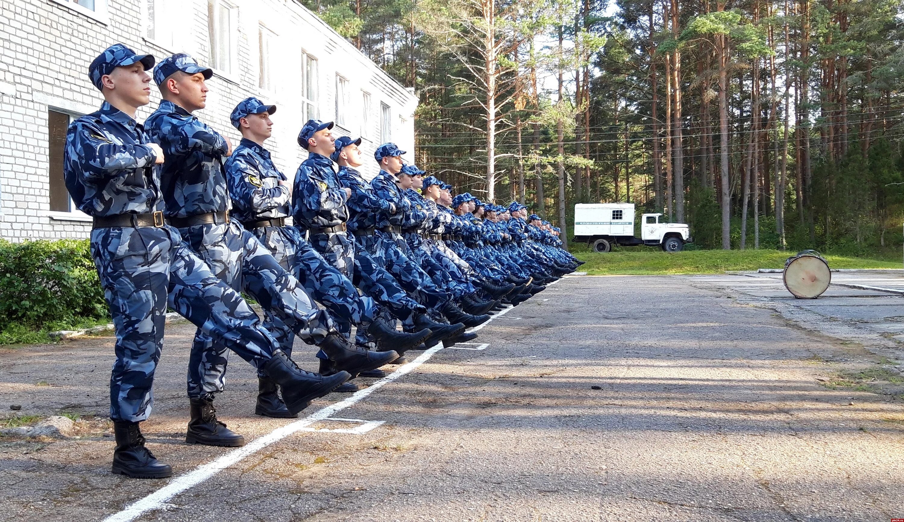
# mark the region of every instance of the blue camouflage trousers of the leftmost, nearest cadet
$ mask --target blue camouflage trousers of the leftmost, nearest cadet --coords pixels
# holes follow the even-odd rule
[[[248,303],[212,274],[175,228],[95,228],[91,256],[116,327],[114,421],[140,422],[151,415],[167,304],[256,368],[276,347]]]

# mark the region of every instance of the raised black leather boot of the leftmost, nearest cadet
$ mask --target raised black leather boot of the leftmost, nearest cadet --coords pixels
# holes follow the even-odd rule
[[[325,396],[352,378],[346,371],[337,371],[328,377],[305,371],[298,368],[283,350],[275,350],[263,369],[279,385],[291,414],[297,414],[315,398]]]

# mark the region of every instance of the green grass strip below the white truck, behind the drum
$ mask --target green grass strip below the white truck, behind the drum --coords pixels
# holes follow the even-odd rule
[[[721,274],[733,270],[783,268],[796,252],[780,250],[685,250],[667,254],[658,248],[621,248],[597,254],[575,252],[589,275]],[[901,262],[866,257],[824,256],[831,268],[901,268]]]

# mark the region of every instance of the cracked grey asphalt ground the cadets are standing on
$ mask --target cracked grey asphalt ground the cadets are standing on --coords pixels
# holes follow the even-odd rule
[[[363,380],[376,389],[341,411],[323,409],[350,398],[332,394],[302,412],[356,421],[303,422],[240,460],[184,443],[193,327],[167,325],[143,431],[170,480],[109,472],[111,337],[0,350],[2,407],[82,419],[77,437],[0,438],[0,520],[128,519],[130,506],[155,507],[140,520],[216,522],[904,517],[904,403],[826,385],[888,360],[727,282],[566,277],[488,323],[484,350],[388,367],[410,371]],[[296,350],[315,368],[313,347]],[[221,420],[249,441],[299,425],[253,415],[256,391],[233,358]],[[218,458],[235,463],[196,471]],[[202,480],[161,496],[186,477]]]

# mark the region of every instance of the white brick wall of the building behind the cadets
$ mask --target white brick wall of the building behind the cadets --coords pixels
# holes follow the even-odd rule
[[[77,213],[50,211],[47,119],[49,109],[78,116],[99,107],[102,98],[90,84],[87,70],[100,51],[123,42],[136,51],[151,52],[158,60],[172,52],[186,51],[201,63],[210,61],[208,0],[178,0],[181,18],[172,21],[180,28],[178,49],[165,49],[145,38],[147,1],[108,0],[106,23],[65,5],[65,0],[0,3],[0,237],[19,241],[89,235],[89,222]],[[321,119],[334,119],[335,77],[341,74],[350,81],[348,126],[352,128],[338,132],[363,133],[363,148],[370,157],[380,141],[381,102],[386,103],[391,106],[393,141],[413,154],[413,112],[417,104],[413,94],[297,2],[229,2],[238,10],[236,67],[230,74],[209,80],[207,107],[196,113],[202,121],[237,144],[240,135],[229,121],[236,103],[257,96],[276,104],[274,135],[267,145],[277,166],[290,178],[294,176],[298,163],[306,157],[296,143],[298,130],[306,121],[298,101],[304,51],[318,61],[317,107]],[[269,53],[276,71],[273,92],[258,88],[260,24],[276,35],[276,45]],[[194,30],[184,33],[185,27]],[[361,124],[362,91],[372,97],[367,129]],[[139,110],[139,121],[159,101],[156,89],[152,94],[151,104]],[[400,116],[406,119],[405,126],[401,126]],[[365,164],[363,171],[375,173],[376,163]]]

